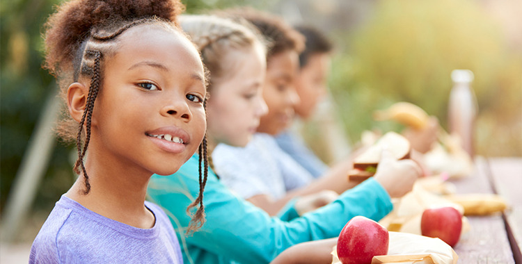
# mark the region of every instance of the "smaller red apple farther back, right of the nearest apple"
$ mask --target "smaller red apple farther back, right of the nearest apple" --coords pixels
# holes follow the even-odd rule
[[[429,208],[422,213],[420,220],[422,236],[441,238],[453,247],[459,242],[461,230],[462,215],[451,206]]]

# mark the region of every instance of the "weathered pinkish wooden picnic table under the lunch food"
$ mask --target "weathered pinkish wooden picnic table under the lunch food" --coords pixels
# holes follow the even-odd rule
[[[450,180],[457,193],[493,193],[506,199],[502,214],[468,217],[471,230],[454,250],[459,263],[522,263],[522,158],[475,158],[473,174]]]

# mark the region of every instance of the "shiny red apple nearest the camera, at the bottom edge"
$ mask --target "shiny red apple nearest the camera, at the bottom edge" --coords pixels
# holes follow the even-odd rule
[[[389,243],[388,230],[374,220],[356,216],[339,234],[337,256],[342,264],[368,264],[373,256],[388,254]]]

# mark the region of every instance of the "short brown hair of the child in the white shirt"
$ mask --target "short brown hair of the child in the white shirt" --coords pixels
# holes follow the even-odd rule
[[[231,19],[246,19],[253,24],[269,43],[267,59],[277,53],[294,50],[301,53],[305,38],[281,17],[264,13],[253,8],[231,8],[216,11],[214,14]]]

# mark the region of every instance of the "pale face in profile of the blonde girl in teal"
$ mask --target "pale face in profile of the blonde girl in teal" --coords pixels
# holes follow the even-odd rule
[[[262,98],[266,58],[260,44],[255,44],[248,49],[230,49],[221,63],[230,65],[230,73],[212,81],[207,135],[215,145],[244,147],[258,128],[260,117],[267,113]]]

